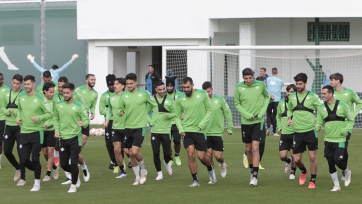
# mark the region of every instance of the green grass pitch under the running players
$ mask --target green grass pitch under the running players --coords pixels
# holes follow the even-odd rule
[[[220,176],[220,167],[216,165],[217,184],[209,185],[209,175],[205,166],[198,161],[198,177],[200,186],[189,188],[192,182],[188,167],[186,151],[181,150],[181,166],[173,166],[173,174],[165,171],[164,179],[156,181],[157,172],[153,165],[150,145],[150,133],[147,132],[141,153],[148,170],[147,182],[144,185],[132,186],[134,173],[127,169],[128,177],[115,179],[108,169],[110,159],[106,151],[104,137],[90,136],[83,150],[85,161],[89,166],[90,180],[82,183],[76,193],[67,193],[69,186],[60,185],[65,180],[63,170],[58,180],[41,182],[40,192],[30,192],[34,174],[27,170],[27,184],[17,187],[13,181],[14,168],[2,157],[0,169],[1,203],[357,203],[360,200],[362,185],[362,158],[359,157],[362,148],[362,130],[354,130],[349,144],[349,168],[352,169],[352,182],[342,191],[330,192],[333,187],[328,165],[323,157],[323,132],[319,137],[320,149],[317,150],[318,173],[316,189],[308,189],[307,183],[299,186],[300,170],[296,171],[296,179],[289,180],[285,174],[285,162],[279,159],[279,137],[266,138],[265,153],[259,170],[258,186],[249,187],[250,171],[242,164],[245,146],[241,142],[240,129],[234,134],[224,137],[224,157],[226,159],[227,176]],[[303,161],[309,167],[308,155],[304,153]],[[45,175],[46,162],[41,155],[42,178]],[[217,163],[216,163],[217,164]],[[340,170],[338,170],[340,174]],[[340,177],[340,176],[339,176]],[[307,179],[310,179],[308,175]]]

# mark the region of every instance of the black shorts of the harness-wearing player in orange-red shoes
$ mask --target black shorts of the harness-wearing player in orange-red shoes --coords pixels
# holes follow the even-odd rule
[[[315,130],[304,133],[294,133],[293,154],[306,151],[306,145],[309,151],[318,149],[318,134]]]

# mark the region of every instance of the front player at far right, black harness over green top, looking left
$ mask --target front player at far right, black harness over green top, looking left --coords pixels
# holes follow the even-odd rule
[[[317,111],[316,129],[319,131],[324,124],[324,157],[327,159],[329,174],[331,174],[334,187],[331,191],[340,191],[338,181],[338,166],[345,173],[344,185],[351,182],[352,171],[344,162],[346,136],[353,128],[354,117],[348,105],[333,97],[333,87],[328,85],[322,88],[322,99],[324,101]]]

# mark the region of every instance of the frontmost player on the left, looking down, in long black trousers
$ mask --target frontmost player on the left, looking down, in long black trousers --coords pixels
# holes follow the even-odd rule
[[[89,119],[84,106],[73,98],[74,84],[65,83],[62,90],[64,99],[54,107],[54,136],[60,138],[60,165],[72,175],[68,193],[74,193],[80,186],[77,163],[82,146],[81,127],[88,126]]]

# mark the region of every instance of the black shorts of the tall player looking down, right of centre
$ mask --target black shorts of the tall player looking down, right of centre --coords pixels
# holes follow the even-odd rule
[[[252,143],[252,141],[265,143],[266,131],[264,122],[258,122],[250,125],[241,124],[241,134],[243,136],[243,142],[246,144]]]

